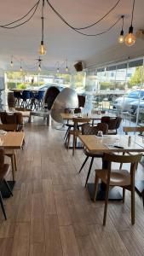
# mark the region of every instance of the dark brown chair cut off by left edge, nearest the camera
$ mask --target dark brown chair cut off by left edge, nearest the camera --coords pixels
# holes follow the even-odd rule
[[[5,212],[4,205],[3,205],[3,196],[1,193],[2,183],[9,190],[10,195],[13,195],[11,189],[9,188],[9,184],[6,182],[6,180],[4,178],[8,174],[8,172],[9,172],[9,165],[4,164],[4,151],[3,151],[3,148],[0,148],[0,204],[1,204],[3,215],[4,215],[5,219],[7,219],[7,216],[6,216],[6,212]]]

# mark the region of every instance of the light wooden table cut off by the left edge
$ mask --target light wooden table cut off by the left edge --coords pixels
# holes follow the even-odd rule
[[[6,150],[10,149],[10,151],[20,149],[22,147],[24,137],[25,133],[22,131],[9,131],[6,133],[6,135],[0,135],[1,142],[3,142],[0,147]],[[13,175],[15,176],[15,173],[13,173]],[[8,181],[8,183],[9,187],[13,189],[15,181]],[[1,192],[3,197],[9,197],[9,192],[5,190],[5,186],[2,187]]]

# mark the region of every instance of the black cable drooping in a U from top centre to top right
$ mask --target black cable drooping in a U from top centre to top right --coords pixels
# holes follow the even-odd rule
[[[59,16],[60,20],[62,20],[63,22],[66,23],[66,25],[70,26],[70,27],[71,27],[72,29],[74,29],[74,30],[82,30],[82,29],[87,29],[87,28],[89,28],[89,27],[91,27],[91,26],[95,26],[96,24],[100,23],[101,20],[103,20],[104,18],[106,18],[107,15],[109,15],[109,14],[112,12],[112,10],[117,7],[117,5],[118,5],[118,3],[119,3],[120,1],[121,1],[121,0],[118,0],[118,2],[115,3],[115,5],[112,7],[112,9],[110,9],[110,10],[107,12],[107,14],[104,15],[104,16],[102,16],[99,20],[95,21],[95,23],[92,23],[91,25],[89,25],[89,26],[84,26],[84,27],[74,27],[74,26],[70,25],[70,24],[60,15],[60,13],[58,13],[58,11],[54,8],[54,6],[53,6],[51,3],[49,3],[49,0],[47,0],[47,3],[49,4],[49,7],[50,7],[51,9],[53,9],[53,11],[55,12],[55,14]]]

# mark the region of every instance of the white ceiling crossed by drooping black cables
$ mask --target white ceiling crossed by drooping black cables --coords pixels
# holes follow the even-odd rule
[[[41,0],[42,2],[42,0]],[[117,0],[50,0],[72,26],[87,26],[105,15]],[[4,0],[0,3],[0,24],[6,24],[25,15],[36,0]],[[124,30],[128,32],[133,0],[121,0],[116,9],[87,33],[97,33],[111,26],[118,16],[125,15]],[[31,70],[38,57],[37,49],[41,41],[41,5],[32,20],[23,26],[7,30],[0,28],[0,67],[9,69],[11,55],[20,61],[26,69]],[[144,28],[143,18],[144,1],[135,0],[135,14],[133,25],[135,31]],[[72,31],[49,8],[45,1],[44,8],[44,44],[47,54],[42,57],[43,65],[47,69],[54,68],[56,61],[60,65],[68,60],[68,66],[72,67],[77,61],[87,61],[95,55],[100,55],[109,48],[118,45],[118,34],[121,30],[121,22],[110,32],[93,38],[85,37]],[[123,47],[123,46],[122,46]],[[20,68],[20,62],[14,60],[14,68]],[[24,64],[24,62],[26,64]],[[30,68],[31,67],[31,68]]]

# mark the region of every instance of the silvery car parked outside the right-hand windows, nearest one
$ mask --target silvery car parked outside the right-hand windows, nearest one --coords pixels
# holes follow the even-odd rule
[[[129,111],[132,107],[132,105],[144,101],[144,90],[134,90],[131,91],[128,95],[118,97],[113,102],[113,108],[122,110],[122,111]]]

